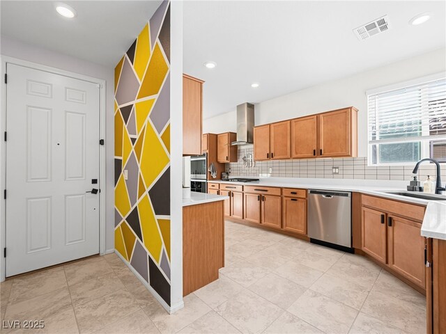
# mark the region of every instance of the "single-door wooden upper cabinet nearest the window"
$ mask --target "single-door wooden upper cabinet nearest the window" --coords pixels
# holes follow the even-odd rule
[[[357,109],[318,114],[320,157],[357,156]]]

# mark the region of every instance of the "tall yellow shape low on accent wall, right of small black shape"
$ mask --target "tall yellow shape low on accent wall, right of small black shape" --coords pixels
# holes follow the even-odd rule
[[[144,196],[138,203],[139,218],[141,221],[142,238],[144,246],[156,262],[160,262],[162,239],[158,232],[155,215],[148,200],[148,196]]]

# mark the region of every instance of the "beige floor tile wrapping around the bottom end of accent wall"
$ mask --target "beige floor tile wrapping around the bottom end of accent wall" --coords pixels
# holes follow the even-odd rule
[[[161,333],[176,333],[210,311],[209,306],[194,294],[185,296],[183,301],[184,308],[173,315],[169,315],[159,303],[144,308],[144,312]]]

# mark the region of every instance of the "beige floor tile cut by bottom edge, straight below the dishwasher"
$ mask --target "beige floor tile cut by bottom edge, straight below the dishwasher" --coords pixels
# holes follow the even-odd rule
[[[358,311],[307,290],[289,307],[288,312],[325,333],[348,333]]]

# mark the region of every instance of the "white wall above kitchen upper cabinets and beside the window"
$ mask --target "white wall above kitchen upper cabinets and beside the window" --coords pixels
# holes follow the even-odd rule
[[[446,71],[446,49],[381,66],[351,77],[299,90],[256,104],[255,124],[286,120],[355,106],[358,112],[358,155],[367,156],[366,90]],[[247,101],[250,102],[250,101]],[[234,106],[235,107],[235,106]],[[206,116],[206,111],[203,112]],[[203,132],[236,131],[236,111],[203,120]]]

